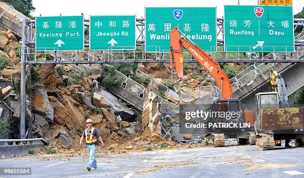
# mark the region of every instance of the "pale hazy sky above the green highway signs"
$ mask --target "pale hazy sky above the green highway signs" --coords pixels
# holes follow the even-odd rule
[[[145,7],[217,7],[217,17],[224,16],[224,5],[238,0],[33,0],[33,16],[62,15],[136,15],[145,17]],[[240,5],[257,5],[258,0],[239,0]],[[302,10],[304,0],[293,0],[293,13]]]

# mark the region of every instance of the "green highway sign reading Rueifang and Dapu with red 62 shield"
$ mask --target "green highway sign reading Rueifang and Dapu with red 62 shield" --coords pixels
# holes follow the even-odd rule
[[[224,9],[226,51],[294,51],[292,6],[225,5]]]

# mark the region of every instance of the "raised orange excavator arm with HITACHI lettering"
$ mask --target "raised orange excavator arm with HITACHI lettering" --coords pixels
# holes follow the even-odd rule
[[[170,68],[173,69],[173,59],[178,78],[183,77],[183,48],[185,48],[208,73],[216,80],[221,89],[221,98],[231,98],[231,84],[226,73],[220,68],[219,63],[205,53],[198,45],[192,45],[181,38],[180,31],[175,27],[171,32],[170,42]]]

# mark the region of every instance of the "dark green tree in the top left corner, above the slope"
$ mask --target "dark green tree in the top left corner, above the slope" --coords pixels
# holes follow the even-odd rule
[[[36,8],[33,6],[32,0],[2,0],[8,5],[12,5],[16,10],[23,13],[25,16],[32,17],[30,15],[31,10]]]

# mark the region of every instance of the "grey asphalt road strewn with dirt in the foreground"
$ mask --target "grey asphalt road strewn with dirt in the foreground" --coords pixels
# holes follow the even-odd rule
[[[304,178],[304,148],[259,151],[255,146],[230,146],[146,151],[98,157],[98,169],[90,172],[86,165],[86,157],[3,159],[0,168],[30,167],[32,175],[0,178]]]

